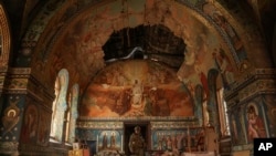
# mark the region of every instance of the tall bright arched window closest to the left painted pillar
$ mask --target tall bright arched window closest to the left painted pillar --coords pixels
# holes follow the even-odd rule
[[[62,142],[64,113],[67,108],[66,94],[68,86],[68,72],[62,69],[55,81],[55,100],[53,102],[53,114],[51,123],[50,142]]]

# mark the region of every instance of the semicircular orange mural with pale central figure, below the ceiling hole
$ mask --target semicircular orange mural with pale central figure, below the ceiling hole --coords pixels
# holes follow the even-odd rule
[[[157,62],[114,63],[88,86],[82,116],[193,116],[193,101],[176,71]]]

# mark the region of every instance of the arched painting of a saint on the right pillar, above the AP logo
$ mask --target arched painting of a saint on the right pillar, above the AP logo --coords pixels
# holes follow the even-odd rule
[[[245,107],[245,119],[248,143],[253,143],[254,138],[267,136],[262,107],[257,102],[252,101],[247,103]]]

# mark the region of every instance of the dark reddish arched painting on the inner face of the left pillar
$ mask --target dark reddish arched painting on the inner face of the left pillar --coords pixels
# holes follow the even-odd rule
[[[38,136],[38,119],[39,119],[39,111],[34,104],[29,104],[26,106],[24,113],[24,119],[22,124],[21,131],[21,142],[29,144],[29,143],[36,143]]]

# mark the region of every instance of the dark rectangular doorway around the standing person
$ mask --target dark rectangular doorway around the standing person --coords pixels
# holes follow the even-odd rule
[[[149,132],[149,123],[148,122],[129,122],[124,123],[124,150],[126,155],[130,155],[130,150],[128,147],[130,135],[135,132],[135,127],[140,126],[141,135],[146,143],[146,150],[150,149],[150,132]]]

